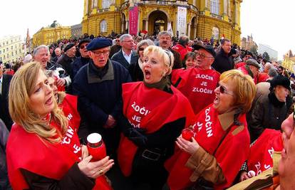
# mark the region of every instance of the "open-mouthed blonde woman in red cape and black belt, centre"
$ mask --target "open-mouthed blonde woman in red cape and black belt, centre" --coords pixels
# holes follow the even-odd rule
[[[193,111],[187,98],[170,85],[172,53],[148,46],[143,57],[143,82],[123,84],[118,163],[135,189],[143,184],[162,189],[167,179],[164,162]]]

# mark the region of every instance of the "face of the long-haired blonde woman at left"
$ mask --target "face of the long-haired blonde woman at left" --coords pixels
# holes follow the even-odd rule
[[[42,70],[39,71],[36,86],[33,87],[33,93],[30,96],[29,106],[31,111],[41,117],[46,117],[53,108],[53,93],[48,85],[48,78]]]

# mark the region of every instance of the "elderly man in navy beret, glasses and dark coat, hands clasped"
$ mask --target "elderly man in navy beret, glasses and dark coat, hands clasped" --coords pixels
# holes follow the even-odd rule
[[[78,134],[83,139],[92,132],[101,134],[109,155],[115,153],[120,139],[116,122],[122,111],[122,84],[132,81],[123,65],[108,58],[110,46],[112,41],[106,38],[88,43],[91,59],[73,82],[81,120],[88,123],[88,128],[79,129]]]

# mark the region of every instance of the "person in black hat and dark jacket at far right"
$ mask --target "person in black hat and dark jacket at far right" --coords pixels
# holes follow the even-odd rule
[[[291,104],[289,103],[290,80],[277,75],[270,81],[270,93],[258,98],[248,122],[251,142],[257,139],[265,128],[281,130]]]

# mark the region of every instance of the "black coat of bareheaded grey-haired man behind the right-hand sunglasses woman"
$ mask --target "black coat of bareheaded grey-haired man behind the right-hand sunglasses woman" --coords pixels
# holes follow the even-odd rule
[[[221,48],[219,53],[217,53],[214,62],[212,63],[212,68],[222,74],[224,71],[234,68],[234,60],[230,54],[227,55]]]

